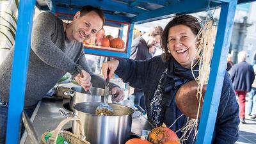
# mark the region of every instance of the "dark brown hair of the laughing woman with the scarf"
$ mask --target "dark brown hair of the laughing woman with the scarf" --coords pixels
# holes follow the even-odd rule
[[[171,54],[168,51],[168,35],[169,29],[177,25],[188,26],[194,35],[197,35],[201,29],[200,22],[192,15],[177,15],[175,16],[164,28],[163,35],[161,36],[161,47],[164,51],[163,60],[168,61]]]

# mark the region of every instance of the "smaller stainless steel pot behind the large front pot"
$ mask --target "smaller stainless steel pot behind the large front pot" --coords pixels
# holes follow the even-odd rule
[[[104,102],[104,89],[91,88],[90,92],[85,91],[81,86],[72,87],[70,91],[63,92],[64,95],[70,96],[69,105],[74,109],[74,104],[79,102]]]

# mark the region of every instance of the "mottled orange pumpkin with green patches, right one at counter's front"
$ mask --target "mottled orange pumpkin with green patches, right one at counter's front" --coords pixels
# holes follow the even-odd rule
[[[175,132],[163,124],[149,132],[148,141],[154,144],[178,144],[179,138]]]

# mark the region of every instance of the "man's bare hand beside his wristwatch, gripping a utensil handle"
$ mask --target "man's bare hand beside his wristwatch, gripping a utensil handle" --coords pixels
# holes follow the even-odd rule
[[[91,76],[85,70],[82,70],[82,73],[83,77],[80,74],[77,74],[75,80],[79,85],[84,88],[84,90],[90,90],[90,88],[92,88]]]

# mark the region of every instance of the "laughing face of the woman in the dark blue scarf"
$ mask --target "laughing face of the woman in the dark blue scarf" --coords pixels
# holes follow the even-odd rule
[[[188,26],[180,24],[169,29],[168,49],[182,67],[190,68],[196,55],[195,38]]]

